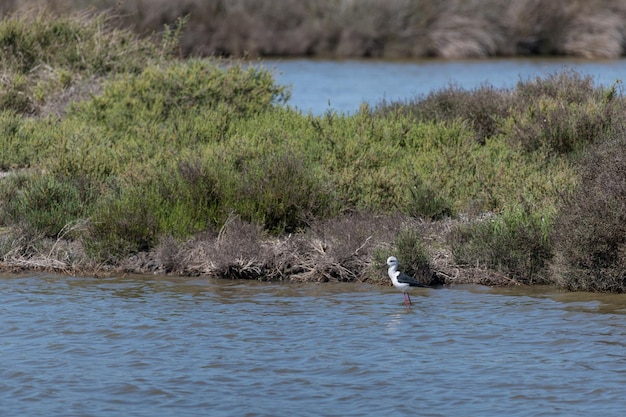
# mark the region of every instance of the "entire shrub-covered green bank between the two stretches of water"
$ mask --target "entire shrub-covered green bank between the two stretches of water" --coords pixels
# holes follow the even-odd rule
[[[431,284],[626,289],[619,84],[314,117],[262,67],[175,59],[175,32],[0,22],[5,268],[384,282],[393,253]]]

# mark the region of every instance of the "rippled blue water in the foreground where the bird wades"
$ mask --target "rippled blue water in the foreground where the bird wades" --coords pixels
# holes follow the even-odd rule
[[[382,271],[381,273],[384,273]],[[621,416],[626,296],[0,277],[3,416]]]

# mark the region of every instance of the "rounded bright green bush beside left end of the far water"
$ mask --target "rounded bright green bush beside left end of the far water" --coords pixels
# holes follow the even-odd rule
[[[71,115],[115,131],[128,131],[137,122],[175,122],[188,117],[189,112],[197,115],[218,108],[220,112],[253,115],[284,103],[288,97],[287,90],[276,86],[268,71],[188,60],[149,66],[139,74],[119,77],[102,95],[74,106]]]

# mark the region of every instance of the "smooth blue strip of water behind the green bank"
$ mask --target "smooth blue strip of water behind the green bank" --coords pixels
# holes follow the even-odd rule
[[[290,105],[305,113],[353,113],[361,103],[406,100],[451,84],[473,89],[482,84],[512,88],[520,80],[563,70],[590,75],[610,86],[626,77],[626,60],[493,59],[477,61],[277,60],[266,61],[276,80],[292,86]]]

